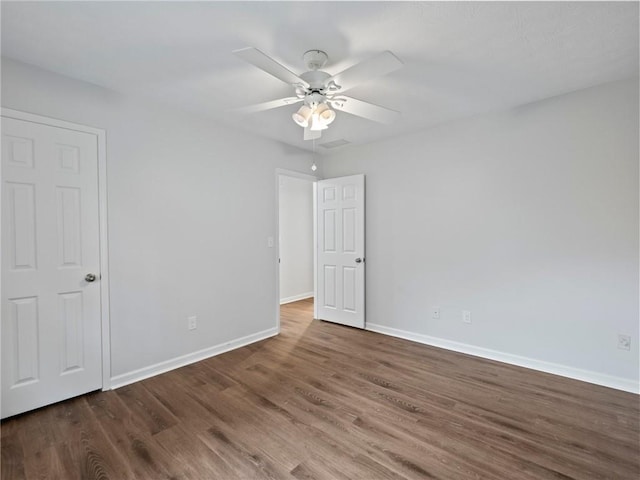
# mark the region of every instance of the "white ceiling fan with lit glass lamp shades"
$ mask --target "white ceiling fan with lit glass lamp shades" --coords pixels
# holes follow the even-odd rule
[[[308,50],[303,60],[308,71],[296,75],[284,65],[254,47],[234,50],[233,53],[250,64],[264,70],[295,89],[295,96],[280,98],[236,109],[238,113],[255,113],[303,102],[293,120],[304,128],[304,139],[320,138],[336,117],[335,110],[350,113],[380,123],[391,123],[400,113],[395,110],[363,102],[343,95],[343,92],[400,68],[403,63],[393,53],[384,51],[331,75],[320,70],[329,57],[322,50]]]

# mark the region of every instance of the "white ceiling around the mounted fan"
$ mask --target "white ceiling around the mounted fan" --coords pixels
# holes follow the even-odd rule
[[[231,52],[290,70],[329,54],[334,74],[391,50],[404,67],[349,95],[402,112],[393,125],[338,113],[318,144],[353,144],[638,75],[637,2],[2,2],[2,54],[144,95],[310,149],[297,106],[228,109],[292,95]],[[322,149],[319,149],[322,150]]]

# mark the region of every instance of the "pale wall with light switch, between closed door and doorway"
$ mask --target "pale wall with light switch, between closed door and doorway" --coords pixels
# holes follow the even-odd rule
[[[8,59],[2,105],[107,132],[116,383],[275,333],[274,175],[308,154]]]

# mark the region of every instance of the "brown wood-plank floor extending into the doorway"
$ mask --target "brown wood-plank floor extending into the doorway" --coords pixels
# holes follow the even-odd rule
[[[639,397],[312,320],[2,423],[2,479],[633,479]]]

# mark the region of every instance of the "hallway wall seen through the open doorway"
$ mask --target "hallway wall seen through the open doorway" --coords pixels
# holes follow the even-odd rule
[[[280,175],[280,302],[313,296],[313,183]]]

